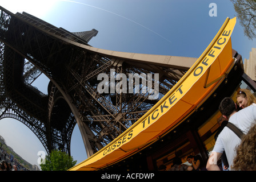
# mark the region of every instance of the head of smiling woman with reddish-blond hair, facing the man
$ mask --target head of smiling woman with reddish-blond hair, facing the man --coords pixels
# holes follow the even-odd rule
[[[240,89],[237,93],[237,103],[242,109],[256,102],[256,98],[248,89]]]

